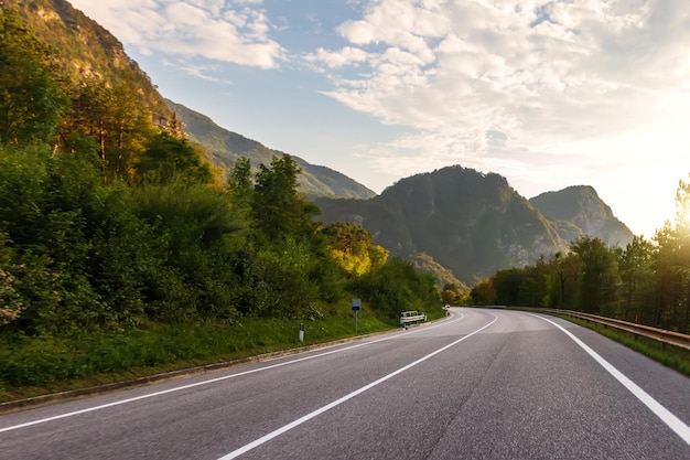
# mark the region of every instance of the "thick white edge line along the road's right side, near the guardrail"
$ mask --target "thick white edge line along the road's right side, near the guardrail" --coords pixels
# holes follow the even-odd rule
[[[573,342],[580,345],[582,350],[587,352],[587,354],[592,356],[594,361],[601,364],[602,367],[604,367],[611,375],[613,375],[618,382],[621,382],[623,386],[625,386],[632,394],[634,394],[637,397],[637,399],[643,402],[643,404],[647,406],[657,417],[659,417],[661,421],[668,425],[670,429],[676,431],[676,434],[680,436],[680,438],[683,441],[690,445],[690,427],[686,425],[681,419],[676,417],[673,414],[671,414],[670,410],[668,410],[659,402],[653,398],[647,392],[645,392],[639,386],[637,386],[637,384],[635,384],[633,381],[626,377],[621,371],[615,368],[608,361],[600,356],[599,353],[596,353],[594,350],[590,349],[584,342],[582,342],[580,339],[574,336],[571,332],[565,330],[565,328],[557,324],[556,322],[547,318],[540,317],[538,314],[532,314],[532,313],[528,313],[528,314],[531,314],[532,317],[537,317],[545,321],[548,321],[551,324],[556,325],[561,331],[563,331],[565,335],[572,339]]]

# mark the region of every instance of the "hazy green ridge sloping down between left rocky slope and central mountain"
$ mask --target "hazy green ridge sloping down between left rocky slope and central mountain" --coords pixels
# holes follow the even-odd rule
[[[240,157],[249,158],[252,167],[257,169],[261,163],[269,165],[273,157],[283,154],[283,152],[269,149],[256,140],[228,131],[216,125],[207,116],[181,104],[168,99],[165,103],[176,114],[190,140],[202,146],[208,153],[207,160],[223,170],[224,173],[227,173]],[[345,174],[326,167],[310,164],[295,156],[292,158],[302,170],[298,179],[300,190],[311,197],[342,196],[366,200],[376,195],[375,192]]]

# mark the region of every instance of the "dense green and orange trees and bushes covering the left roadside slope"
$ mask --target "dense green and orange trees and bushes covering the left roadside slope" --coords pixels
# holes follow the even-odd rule
[[[322,318],[354,297],[395,324],[440,306],[365,229],[323,228],[290,156],[218,183],[132,79],[61,79],[53,57],[0,9],[0,332]]]

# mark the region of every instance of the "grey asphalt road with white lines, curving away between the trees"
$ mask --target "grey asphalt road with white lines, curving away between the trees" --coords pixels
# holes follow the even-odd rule
[[[688,424],[690,378],[559,319],[463,308],[6,415],[0,458],[690,460]]]

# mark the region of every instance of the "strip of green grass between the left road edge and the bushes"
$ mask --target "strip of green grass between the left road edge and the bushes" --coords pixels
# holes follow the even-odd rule
[[[358,335],[393,329],[371,314],[358,318]],[[73,338],[0,336],[0,403],[89,388],[160,373],[245,359],[354,336],[354,314],[300,321],[242,319],[148,324],[137,330]]]

